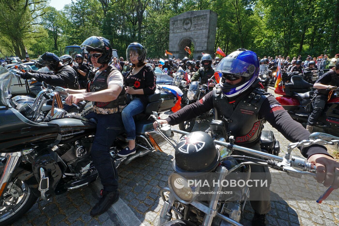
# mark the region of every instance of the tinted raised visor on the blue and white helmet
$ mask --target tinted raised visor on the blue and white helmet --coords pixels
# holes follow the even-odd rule
[[[236,58],[224,57],[215,70],[226,74],[249,77],[254,73],[255,66]]]

